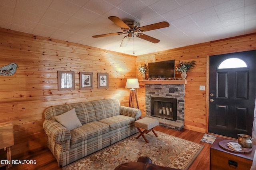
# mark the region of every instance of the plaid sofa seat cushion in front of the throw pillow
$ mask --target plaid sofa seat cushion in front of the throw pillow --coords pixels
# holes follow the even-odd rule
[[[101,123],[98,121],[86,123],[82,125],[82,127],[78,127],[70,131],[71,133],[70,145],[80,143],[82,141],[91,139],[93,137],[102,135],[107,132],[109,132],[109,125],[105,123]]]

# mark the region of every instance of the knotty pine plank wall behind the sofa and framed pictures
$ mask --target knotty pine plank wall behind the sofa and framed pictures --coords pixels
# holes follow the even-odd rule
[[[18,64],[0,76],[0,123],[14,125],[13,158],[46,147],[42,127],[49,106],[118,98],[129,105],[126,79],[136,77],[136,57],[0,28],[0,67]],[[75,72],[75,90],[58,91],[58,70]],[[79,90],[79,72],[93,72],[93,90]],[[109,88],[97,88],[97,73],[109,74]]]

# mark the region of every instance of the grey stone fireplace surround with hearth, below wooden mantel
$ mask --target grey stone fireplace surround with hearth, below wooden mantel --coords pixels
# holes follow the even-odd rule
[[[145,84],[146,116],[151,115],[151,97],[177,99],[177,121],[157,118],[160,126],[180,131],[184,128],[185,84]],[[153,117],[152,117],[153,118]]]

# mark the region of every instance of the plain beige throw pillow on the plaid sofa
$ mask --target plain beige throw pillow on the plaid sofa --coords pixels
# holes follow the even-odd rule
[[[67,111],[66,113],[58,116],[54,116],[54,119],[62,124],[64,127],[66,127],[69,131],[75,129],[76,127],[82,126],[82,123],[76,115],[75,109]]]

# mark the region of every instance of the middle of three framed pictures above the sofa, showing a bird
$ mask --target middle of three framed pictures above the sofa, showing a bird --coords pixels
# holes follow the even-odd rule
[[[93,89],[93,73],[80,72],[80,90]]]

